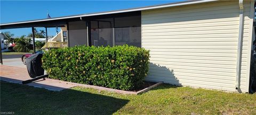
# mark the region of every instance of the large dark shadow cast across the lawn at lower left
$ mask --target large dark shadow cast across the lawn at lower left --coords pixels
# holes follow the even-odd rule
[[[66,89],[47,91],[1,81],[1,111],[15,114],[113,114],[129,100]]]

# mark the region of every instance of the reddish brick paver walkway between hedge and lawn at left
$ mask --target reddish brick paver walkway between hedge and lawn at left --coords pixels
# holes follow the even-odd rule
[[[23,80],[31,79],[28,75],[27,68],[13,67],[9,65],[0,65],[0,80],[11,83],[22,84]],[[45,78],[27,84],[29,86],[45,88],[51,91],[61,91],[63,89],[75,87],[75,84],[69,84],[66,81]]]

